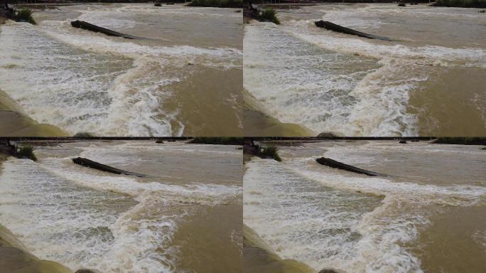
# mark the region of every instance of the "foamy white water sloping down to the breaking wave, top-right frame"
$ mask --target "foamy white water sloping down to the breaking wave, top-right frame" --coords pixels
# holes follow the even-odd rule
[[[406,105],[426,77],[408,77],[409,67],[322,50],[270,23],[247,26],[244,48],[244,87],[282,122],[316,134],[417,132]]]

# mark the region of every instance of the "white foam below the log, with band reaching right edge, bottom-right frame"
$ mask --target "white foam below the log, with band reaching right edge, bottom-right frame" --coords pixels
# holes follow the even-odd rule
[[[429,224],[426,205],[485,204],[485,197],[485,187],[369,178],[314,158],[252,159],[244,175],[244,222],[281,257],[315,270],[422,272],[404,245]]]

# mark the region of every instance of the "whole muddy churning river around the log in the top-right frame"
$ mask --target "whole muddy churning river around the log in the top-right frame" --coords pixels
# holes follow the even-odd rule
[[[278,11],[281,25],[244,28],[244,88],[281,122],[345,136],[485,133],[486,19],[475,9]],[[318,20],[394,41],[327,31]],[[469,124],[451,126],[463,119]]]

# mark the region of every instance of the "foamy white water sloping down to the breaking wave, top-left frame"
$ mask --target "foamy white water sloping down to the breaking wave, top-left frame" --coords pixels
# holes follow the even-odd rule
[[[0,68],[0,87],[38,122],[70,134],[181,134],[171,128],[176,113],[160,107],[181,79],[154,77],[159,63],[77,50],[21,23],[2,26],[0,38],[0,63],[17,64]]]

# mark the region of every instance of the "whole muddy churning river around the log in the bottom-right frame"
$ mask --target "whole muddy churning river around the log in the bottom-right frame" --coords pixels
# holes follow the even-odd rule
[[[483,151],[407,145],[323,142],[281,147],[282,163],[253,159],[244,175],[244,223],[282,258],[317,271],[482,272]],[[321,166],[318,156],[390,177]]]

